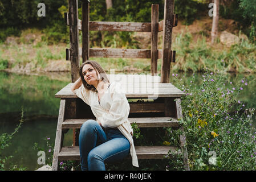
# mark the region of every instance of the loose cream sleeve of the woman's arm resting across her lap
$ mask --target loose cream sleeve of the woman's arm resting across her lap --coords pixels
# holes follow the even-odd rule
[[[129,115],[130,106],[119,83],[115,84],[111,97],[112,104],[109,111],[99,118],[103,127],[117,127],[127,121]]]

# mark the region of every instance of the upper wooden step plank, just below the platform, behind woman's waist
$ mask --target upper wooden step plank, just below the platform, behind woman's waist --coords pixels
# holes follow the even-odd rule
[[[95,120],[95,118],[92,118]],[[172,119],[172,121],[169,121]],[[66,119],[62,123],[62,129],[80,129],[88,119]],[[152,117],[152,118],[128,118],[130,123],[137,123],[139,127],[179,127],[177,119],[171,117]]]

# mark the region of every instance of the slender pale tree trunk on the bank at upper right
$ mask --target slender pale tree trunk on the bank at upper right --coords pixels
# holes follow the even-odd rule
[[[219,22],[219,10],[220,10],[220,0],[214,0],[214,15],[213,15],[213,26],[212,26],[212,44],[218,36],[218,22]]]

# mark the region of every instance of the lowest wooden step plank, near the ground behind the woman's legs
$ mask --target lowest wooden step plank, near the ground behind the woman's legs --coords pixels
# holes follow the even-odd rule
[[[181,150],[174,146],[135,146],[138,159],[163,159],[171,150],[180,154]],[[178,151],[177,151],[178,150]],[[59,160],[80,160],[79,146],[63,146],[58,155]],[[131,159],[131,155],[126,159]]]

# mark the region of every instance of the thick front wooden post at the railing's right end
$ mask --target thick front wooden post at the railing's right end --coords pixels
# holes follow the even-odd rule
[[[170,78],[170,61],[172,54],[172,28],[174,20],[174,0],[164,2],[164,27],[162,32],[161,82],[168,83]]]

